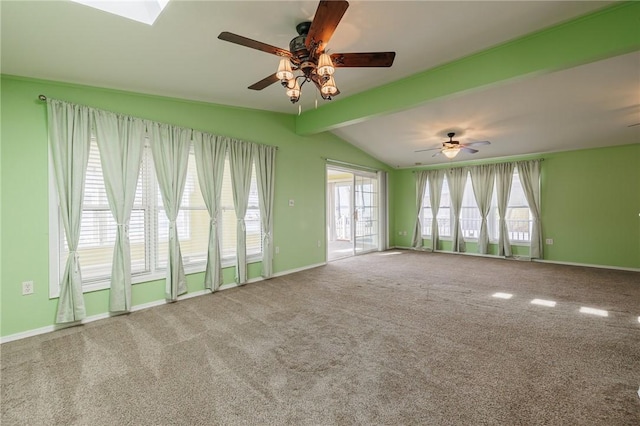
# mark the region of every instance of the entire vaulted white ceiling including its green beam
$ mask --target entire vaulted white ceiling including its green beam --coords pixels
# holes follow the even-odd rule
[[[450,161],[415,152],[449,131],[491,141],[454,162],[639,143],[640,7],[615,3],[351,1],[329,51],[395,63],[338,69],[341,95],[317,109],[303,88],[298,131],[332,131],[393,167]],[[287,48],[317,2],[172,0],[153,26],[71,1],[0,7],[5,74],[298,114],[279,84],[247,89],[276,56],[217,36]]]

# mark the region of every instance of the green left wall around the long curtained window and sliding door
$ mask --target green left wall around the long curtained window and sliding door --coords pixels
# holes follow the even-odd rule
[[[49,299],[49,207],[46,105],[39,94],[155,121],[278,147],[274,202],[274,272],[325,262],[325,161],[338,159],[389,170],[330,133],[299,136],[295,116],[140,95],[79,85],[2,76],[2,253],[0,336],[50,326],[57,299]],[[295,206],[289,207],[288,200]],[[322,246],[317,246],[317,241]],[[250,265],[258,277],[260,264]],[[225,270],[225,282],[233,270]],[[21,283],[35,293],[23,296]],[[203,274],[187,277],[189,292],[204,289]],[[135,284],[133,304],[164,299],[164,280]],[[87,315],[108,311],[108,290],[85,293]]]

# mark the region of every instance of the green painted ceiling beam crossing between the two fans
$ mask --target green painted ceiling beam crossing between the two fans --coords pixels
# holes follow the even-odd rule
[[[640,2],[625,2],[407,78],[332,101],[296,118],[309,135],[428,101],[640,50]]]

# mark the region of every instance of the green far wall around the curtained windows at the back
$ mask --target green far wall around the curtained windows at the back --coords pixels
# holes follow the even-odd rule
[[[399,247],[411,246],[415,170],[394,173],[391,235]],[[546,154],[540,193],[543,238],[553,239],[544,245],[545,260],[640,269],[640,143]],[[467,244],[467,252],[474,250]],[[514,254],[527,253],[514,246]]]

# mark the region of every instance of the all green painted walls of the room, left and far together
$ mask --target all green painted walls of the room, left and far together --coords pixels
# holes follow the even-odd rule
[[[47,126],[39,94],[278,146],[275,273],[325,261],[326,157],[389,172],[389,243],[411,244],[414,170],[391,170],[330,133],[297,135],[295,116],[12,76],[2,76],[0,83],[0,336],[52,325],[57,306],[48,297]],[[544,158],[543,236],[554,239],[545,245],[544,258],[640,268],[640,144]],[[526,248],[516,250],[526,254]],[[250,277],[259,273],[260,264],[250,265]],[[232,282],[233,270],[224,276]],[[34,281],[35,293],[22,296],[26,280]],[[203,290],[203,274],[187,280],[190,293]],[[134,305],[163,300],[164,280],[136,284],[132,293]],[[85,303],[89,316],[107,312],[108,291],[85,293]]]

